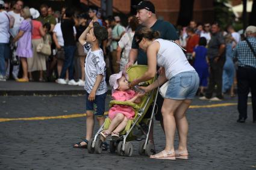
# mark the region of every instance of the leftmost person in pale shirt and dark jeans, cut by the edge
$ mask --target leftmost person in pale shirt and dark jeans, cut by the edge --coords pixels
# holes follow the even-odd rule
[[[0,0],[0,81],[5,81],[5,59],[9,58],[10,16],[4,10],[4,1]]]

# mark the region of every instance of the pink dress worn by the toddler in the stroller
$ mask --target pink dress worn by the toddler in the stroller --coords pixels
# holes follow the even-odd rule
[[[114,91],[112,93],[113,100],[119,100],[119,101],[130,100],[134,96],[136,96],[136,93],[133,90]],[[110,117],[110,120],[113,120],[116,114],[123,114],[126,116],[126,118],[132,119],[135,115],[135,112],[131,106],[114,105],[110,108],[110,111],[108,112],[108,117]]]

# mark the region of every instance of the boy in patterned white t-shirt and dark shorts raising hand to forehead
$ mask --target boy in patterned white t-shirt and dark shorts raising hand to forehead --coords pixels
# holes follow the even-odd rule
[[[101,126],[104,121],[105,98],[107,96],[106,66],[103,51],[99,47],[102,40],[108,38],[107,29],[98,22],[90,22],[86,30],[81,34],[79,42],[87,53],[85,64],[86,90],[86,139],[75,145],[74,148],[87,148],[89,139],[93,135],[94,116]],[[106,145],[106,144],[105,144]],[[102,146],[102,150],[104,147]]]

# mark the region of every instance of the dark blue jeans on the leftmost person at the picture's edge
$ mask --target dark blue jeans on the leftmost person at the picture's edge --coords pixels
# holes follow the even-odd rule
[[[0,43],[0,74],[5,76],[5,59],[10,56],[8,43]]]

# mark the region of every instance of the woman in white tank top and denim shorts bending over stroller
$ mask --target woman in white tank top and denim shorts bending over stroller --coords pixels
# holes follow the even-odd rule
[[[139,47],[148,56],[148,71],[131,82],[131,86],[145,82],[157,74],[157,65],[160,76],[148,87],[141,87],[145,92],[151,91],[168,81],[164,103],[161,109],[163,115],[166,147],[158,154],[152,155],[155,159],[188,159],[187,132],[188,123],[185,112],[189,108],[193,97],[198,90],[199,77],[195,69],[189,64],[181,47],[173,41],[155,39],[159,32],[150,28],[142,28],[134,35]],[[179,133],[179,147],[174,150],[173,142],[175,129]]]

